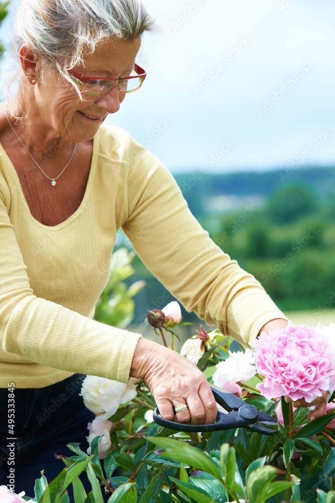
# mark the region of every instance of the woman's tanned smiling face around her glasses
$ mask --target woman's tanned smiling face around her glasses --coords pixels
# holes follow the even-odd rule
[[[90,77],[129,76],[140,45],[141,37],[133,42],[106,42],[85,56],[84,64],[74,70]],[[47,131],[51,130],[52,136],[75,142],[93,138],[107,115],[116,113],[126,97],[115,87],[99,96],[84,94],[84,101],[80,101],[73,86],[62,76],[59,78],[56,67],[50,68],[44,83],[34,91],[38,115]]]

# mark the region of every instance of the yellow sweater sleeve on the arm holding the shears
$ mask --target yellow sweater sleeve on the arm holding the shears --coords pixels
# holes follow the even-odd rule
[[[139,334],[91,320],[30,287],[0,190],[0,341],[8,353],[66,370],[128,382]]]

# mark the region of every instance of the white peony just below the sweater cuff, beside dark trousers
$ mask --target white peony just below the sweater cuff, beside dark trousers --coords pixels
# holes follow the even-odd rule
[[[80,395],[85,406],[99,415],[100,419],[108,419],[116,413],[120,405],[125,405],[137,395],[133,383],[125,384],[104,377],[86,376],[83,380]]]

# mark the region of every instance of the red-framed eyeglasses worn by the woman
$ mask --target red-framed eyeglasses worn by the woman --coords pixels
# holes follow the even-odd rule
[[[64,66],[56,59],[47,56],[49,61],[56,66]],[[108,93],[111,89],[117,87],[119,93],[133,93],[142,86],[147,72],[139,65],[135,64],[129,77],[111,78],[111,77],[87,77],[75,70],[66,70],[70,77],[75,81],[80,91],[89,95],[102,95]]]

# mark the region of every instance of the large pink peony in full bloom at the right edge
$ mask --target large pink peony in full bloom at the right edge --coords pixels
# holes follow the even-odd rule
[[[265,376],[257,388],[268,399],[287,395],[307,403],[335,389],[335,353],[313,326],[277,327],[254,341],[257,372]]]

